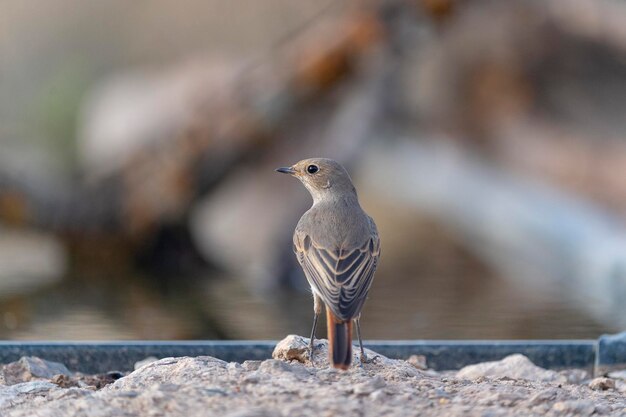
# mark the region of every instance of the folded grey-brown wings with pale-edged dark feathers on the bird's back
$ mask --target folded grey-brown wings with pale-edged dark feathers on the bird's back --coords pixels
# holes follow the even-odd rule
[[[294,252],[309,284],[333,314],[342,320],[358,316],[380,256],[375,227],[362,246],[349,250],[321,247],[309,235],[296,230]]]

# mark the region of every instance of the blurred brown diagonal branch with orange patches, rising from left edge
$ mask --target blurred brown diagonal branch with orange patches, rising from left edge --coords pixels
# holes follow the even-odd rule
[[[227,97],[205,92],[186,126],[142,147],[105,178],[49,188],[39,179],[0,172],[0,219],[132,240],[183,220],[193,202],[262,152],[303,106],[358,72],[359,60],[383,37],[375,9],[339,19],[321,13],[318,19],[307,23],[306,36],[243,72]]]

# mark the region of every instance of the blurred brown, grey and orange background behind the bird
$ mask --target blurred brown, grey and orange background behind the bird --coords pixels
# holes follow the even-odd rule
[[[3,0],[0,338],[308,335],[313,156],[366,339],[624,330],[625,110],[621,1]]]

